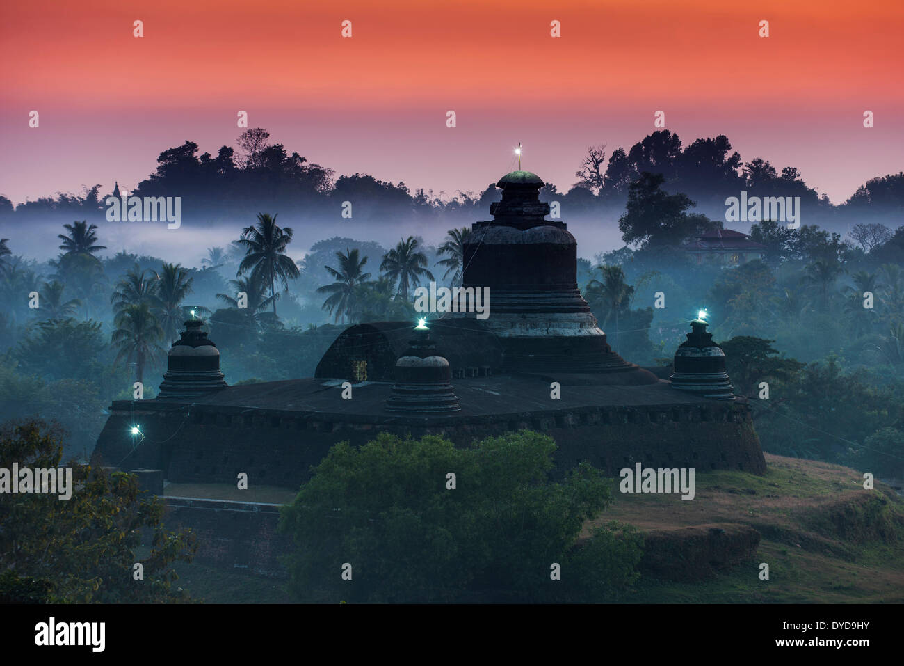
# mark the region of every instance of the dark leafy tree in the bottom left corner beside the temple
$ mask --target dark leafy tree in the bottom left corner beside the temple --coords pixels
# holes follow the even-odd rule
[[[40,422],[0,430],[0,467],[71,469],[71,499],[52,493],[0,494],[0,603],[160,603],[187,601],[171,565],[191,561],[192,532],[166,532],[163,504],[137,477],[89,465],[63,465],[61,439]],[[137,557],[140,530],[152,550]],[[140,562],[144,579],[136,580]]]

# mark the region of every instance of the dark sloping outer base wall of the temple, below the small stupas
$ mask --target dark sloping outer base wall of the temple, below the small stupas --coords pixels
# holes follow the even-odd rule
[[[156,405],[154,405],[155,407]],[[381,432],[442,434],[467,446],[487,436],[527,428],[559,445],[560,474],[589,461],[613,475],[645,467],[693,467],[699,471],[766,472],[749,408],[740,402],[598,407],[569,411],[455,419],[447,425],[404,423],[385,417],[297,414],[214,405],[165,410],[114,409],[92,461],[124,470],[163,470],[174,483],[250,483],[297,487],[310,477],[335,442],[361,445]],[[338,417],[336,417],[338,419]],[[128,434],[140,423],[145,439],[132,450]]]

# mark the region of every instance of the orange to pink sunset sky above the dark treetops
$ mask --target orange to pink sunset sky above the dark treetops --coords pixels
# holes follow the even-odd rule
[[[2,147],[22,162],[0,194],[140,180],[186,138],[232,144],[239,109],[312,161],[448,192],[522,140],[562,189],[583,148],[627,147],[664,109],[685,144],[725,133],[837,203],[904,167],[902,28],[900,0],[7,3]]]

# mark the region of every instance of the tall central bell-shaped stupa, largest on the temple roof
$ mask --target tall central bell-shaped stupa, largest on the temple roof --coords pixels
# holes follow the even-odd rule
[[[565,223],[546,219],[544,185],[530,171],[506,174],[496,183],[502,200],[490,205],[494,219],[471,227],[462,286],[489,290],[489,316],[477,325],[500,339],[507,370],[605,373],[607,383],[654,384],[652,373],[612,351],[597,326],[578,288],[578,243]],[[458,309],[441,320],[475,319],[467,307]]]

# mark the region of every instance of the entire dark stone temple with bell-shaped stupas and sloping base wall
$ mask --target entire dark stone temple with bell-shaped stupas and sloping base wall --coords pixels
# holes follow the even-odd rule
[[[557,474],[581,461],[613,475],[636,462],[764,473],[748,404],[705,322],[692,322],[671,381],[609,347],[577,284],[575,238],[546,219],[543,185],[522,170],[499,180],[494,219],[465,245],[457,311],[350,326],[314,377],[228,386],[215,344],[189,320],[160,395],[114,401],[93,461],[176,483],[234,484],[244,472],[297,489],[336,442],[389,432],[467,446],[530,429],[557,442]],[[489,295],[484,319],[468,302],[476,290]]]

